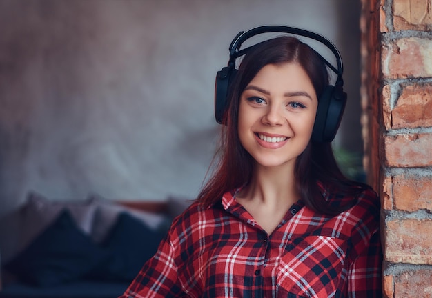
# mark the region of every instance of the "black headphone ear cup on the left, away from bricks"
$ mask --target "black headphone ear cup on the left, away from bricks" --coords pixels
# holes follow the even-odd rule
[[[226,66],[216,74],[215,81],[215,119],[217,123],[224,123],[224,115],[228,108],[228,90],[237,74],[234,66]]]

